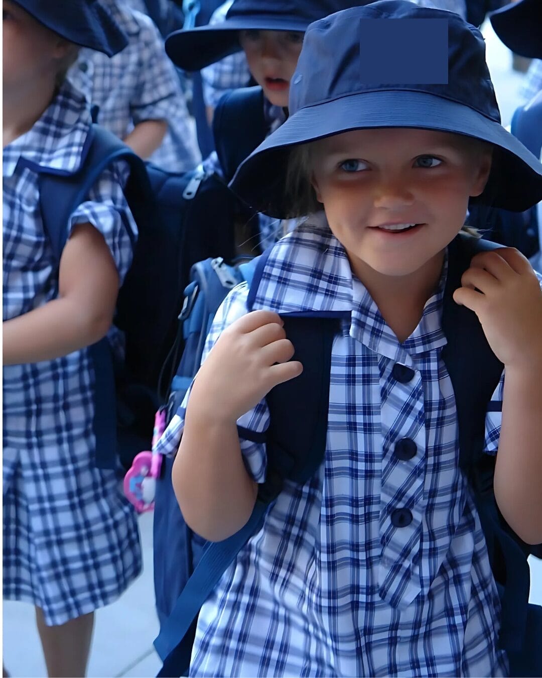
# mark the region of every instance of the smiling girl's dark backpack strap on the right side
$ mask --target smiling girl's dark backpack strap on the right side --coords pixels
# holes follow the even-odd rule
[[[530,576],[526,559],[529,551],[537,547],[524,544],[505,524],[493,492],[495,457],[483,452],[485,413],[488,403],[492,406],[491,397],[504,365],[491,350],[476,314],[452,298],[472,256],[500,246],[463,233],[451,243],[442,313],[448,343],[442,350],[442,359],[455,393],[459,466],[472,487],[501,598],[499,647],[507,651],[510,675],[539,675],[531,673],[539,671],[532,667],[541,655],[535,643],[529,641],[529,634],[534,633],[534,624],[540,626],[542,620],[540,612],[535,614],[534,607],[528,605]]]

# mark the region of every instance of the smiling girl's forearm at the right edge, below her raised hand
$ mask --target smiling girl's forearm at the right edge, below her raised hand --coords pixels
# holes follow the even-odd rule
[[[542,542],[542,357],[528,371],[505,369],[495,498],[522,540]]]

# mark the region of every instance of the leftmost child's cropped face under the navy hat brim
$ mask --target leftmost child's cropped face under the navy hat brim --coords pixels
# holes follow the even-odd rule
[[[45,28],[22,7],[3,0],[3,89],[27,89],[55,77],[70,43]]]

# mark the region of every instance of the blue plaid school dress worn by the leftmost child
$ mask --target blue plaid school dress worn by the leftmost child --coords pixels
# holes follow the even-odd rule
[[[40,168],[75,172],[91,117],[66,82],[41,119],[3,151],[3,320],[58,294],[39,210]],[[132,250],[124,163],[103,172],[66,225],[102,233],[122,280]],[[138,523],[114,471],[94,464],[94,376],[86,348],[3,368],[3,595],[49,625],[111,603],[141,572]]]

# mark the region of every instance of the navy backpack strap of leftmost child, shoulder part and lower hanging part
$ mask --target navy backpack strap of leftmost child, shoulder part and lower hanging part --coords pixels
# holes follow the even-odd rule
[[[130,177],[125,195],[131,212],[138,220],[144,207],[148,184],[143,161],[119,138],[98,125],[92,125],[87,138],[87,155],[81,168],[74,174],[41,173],[39,199],[43,229],[53,248],[57,266],[68,239],[68,221],[85,201],[92,186],[114,161],[125,160],[130,165]],[[136,235],[129,224],[125,228],[133,247]],[[117,456],[117,413],[114,398],[114,371],[109,342],[104,337],[89,346],[95,378],[93,431],[96,435],[96,465],[114,468]]]

